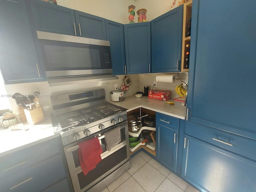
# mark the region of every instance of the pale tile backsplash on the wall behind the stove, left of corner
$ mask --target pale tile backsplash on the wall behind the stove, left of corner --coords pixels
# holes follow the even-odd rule
[[[129,75],[132,84],[129,86],[126,96],[135,94],[139,89],[139,75]],[[35,91],[39,91],[41,94],[71,94],[76,92],[83,92],[93,89],[104,88],[106,92],[106,100],[111,100],[110,91],[114,90],[114,84],[118,84],[118,87],[121,88],[124,75],[118,75],[117,80],[108,80],[108,81],[99,81],[99,82],[90,82],[90,83],[78,83],[72,85],[62,85],[62,86],[53,86],[49,87],[48,82],[34,82],[34,83],[22,83],[22,84],[11,84],[5,85],[7,94],[14,94],[16,92],[20,94],[33,94]],[[52,114],[52,103],[50,97],[41,97],[38,98],[40,106],[42,106],[44,115],[48,116]],[[15,114],[18,114],[18,105],[16,104],[13,98],[9,98],[11,109]]]

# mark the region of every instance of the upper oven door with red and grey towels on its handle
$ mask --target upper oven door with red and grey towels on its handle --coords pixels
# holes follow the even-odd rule
[[[115,147],[113,147],[111,149],[111,151],[107,151],[106,146],[105,146],[104,132],[108,132],[115,128],[120,128],[121,142],[119,142]],[[103,159],[103,158],[107,157],[108,155],[110,155],[111,153],[113,153],[113,151],[116,150],[117,148],[120,148],[120,146],[123,146],[124,144],[126,144],[126,142],[129,142],[128,124],[126,121],[119,123],[115,126],[112,126],[111,128],[104,129],[101,132],[98,132],[92,136],[88,136],[85,139],[80,140],[79,142],[83,142],[83,141],[91,139],[95,136],[99,138],[100,145],[103,150],[103,153],[100,156]],[[70,174],[77,172],[78,170],[81,170],[80,161],[79,161],[79,157],[78,157],[78,148],[79,148],[78,142],[64,147]]]

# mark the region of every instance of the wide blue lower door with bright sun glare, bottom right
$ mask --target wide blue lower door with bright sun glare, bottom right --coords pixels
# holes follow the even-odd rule
[[[182,177],[204,192],[256,191],[256,162],[185,135]]]

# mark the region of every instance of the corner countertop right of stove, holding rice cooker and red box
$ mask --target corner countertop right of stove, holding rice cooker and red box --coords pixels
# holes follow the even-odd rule
[[[173,100],[168,100],[173,101]],[[167,104],[166,101],[149,99],[148,97],[142,96],[141,98],[136,98],[135,95],[126,97],[123,101],[115,102],[108,101],[117,106],[126,108],[127,112],[134,110],[136,108],[142,107],[155,112],[166,114],[180,119],[186,118],[186,110],[176,109],[174,105]]]

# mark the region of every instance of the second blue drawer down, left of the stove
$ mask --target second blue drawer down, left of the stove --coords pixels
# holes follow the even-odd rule
[[[66,178],[60,154],[0,181],[1,191],[42,192]]]

